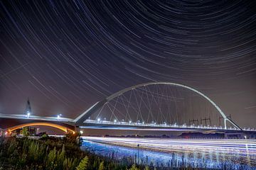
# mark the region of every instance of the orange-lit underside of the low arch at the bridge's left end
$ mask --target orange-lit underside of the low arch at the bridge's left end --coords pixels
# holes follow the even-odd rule
[[[53,128],[58,128],[59,130],[63,130],[64,132],[75,132],[74,130],[71,130],[70,128],[66,128],[63,125],[57,125],[54,123],[46,123],[46,122],[37,122],[37,123],[24,123],[21,125],[16,125],[14,127],[8,128],[9,132],[12,132],[14,130],[23,128],[23,127],[28,127],[28,126],[49,126],[49,127],[53,127]]]

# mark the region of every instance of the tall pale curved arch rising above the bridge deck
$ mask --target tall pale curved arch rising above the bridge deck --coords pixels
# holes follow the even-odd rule
[[[191,91],[195,92],[196,94],[199,94],[203,98],[206,98],[206,100],[209,101],[215,107],[215,109],[218,111],[218,113],[220,113],[220,115],[223,117],[225,129],[227,128],[227,121],[229,121],[232,125],[235,126],[235,128],[242,130],[236,123],[233,122],[233,120],[230,120],[229,118],[227,118],[225,113],[223,113],[223,111],[217,106],[216,103],[214,103],[210,98],[208,98],[208,96],[201,93],[201,91],[193,89],[189,86],[185,86],[183,84],[176,84],[176,83],[171,83],[171,82],[149,82],[149,83],[144,83],[144,84],[138,84],[136,86],[130,86],[126,89],[118,91],[117,93],[112,94],[111,96],[108,96],[104,100],[95,103],[93,106],[91,106],[89,109],[87,109],[87,111],[85,111],[84,113],[79,115],[78,118],[75,118],[75,120],[74,120],[75,124],[79,125],[79,126],[83,125],[83,123],[85,122],[85,120],[87,120],[87,118],[89,118],[93,113],[95,113],[99,108],[101,108],[103,105],[105,105],[105,103],[107,103],[108,101],[111,101],[113,98],[116,98],[117,96],[124,94],[125,92],[130,91],[132,89],[136,89],[141,86],[154,85],[154,84],[167,84],[167,85],[171,85],[171,86],[179,86],[184,89],[191,90]]]

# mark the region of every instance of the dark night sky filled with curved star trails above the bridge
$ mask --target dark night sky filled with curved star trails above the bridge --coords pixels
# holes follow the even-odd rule
[[[256,128],[255,1],[0,1],[0,113],[75,118],[171,81]]]

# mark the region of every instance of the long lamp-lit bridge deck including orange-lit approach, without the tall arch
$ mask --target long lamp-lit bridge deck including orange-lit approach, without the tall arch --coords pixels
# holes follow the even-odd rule
[[[255,129],[237,129],[223,128],[215,126],[202,125],[167,125],[167,124],[145,124],[132,122],[111,122],[107,120],[85,120],[82,125],[76,125],[75,120],[69,118],[54,118],[54,117],[38,117],[31,116],[26,118],[25,115],[3,115],[0,114],[0,128],[2,131],[12,132],[16,129],[28,126],[50,126],[58,128],[64,132],[80,132],[82,129],[101,129],[101,130],[139,130],[139,131],[168,131],[168,132],[203,132],[203,133],[250,133],[256,132]]]

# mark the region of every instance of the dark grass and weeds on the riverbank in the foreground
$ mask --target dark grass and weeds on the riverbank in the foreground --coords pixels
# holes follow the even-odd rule
[[[1,169],[199,169],[189,164],[171,162],[168,167],[158,164],[134,164],[131,157],[116,158],[114,153],[108,157],[96,155],[89,151],[80,150],[77,142],[78,135],[68,134],[63,139],[41,137],[39,140],[28,137],[0,137],[0,170]],[[143,160],[141,161],[143,162]],[[205,164],[206,165],[206,164]],[[203,164],[200,167],[205,167]],[[245,167],[240,167],[246,169]],[[203,168],[201,168],[203,169]],[[225,164],[221,169],[233,169]]]

